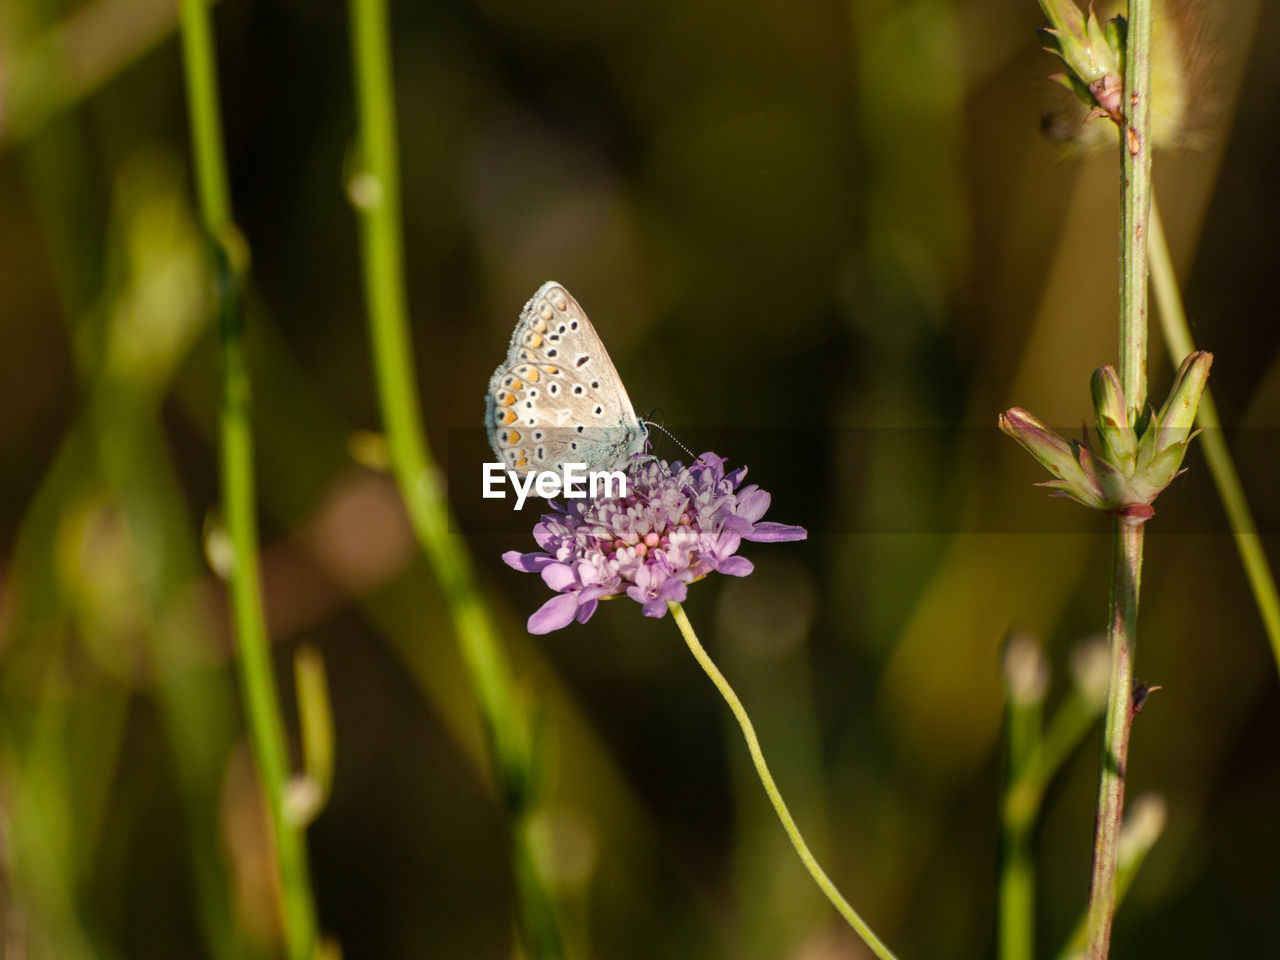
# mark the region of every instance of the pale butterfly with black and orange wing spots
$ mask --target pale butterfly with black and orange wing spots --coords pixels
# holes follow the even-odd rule
[[[649,428],[577,301],[548,282],[520,311],[507,358],[485,396],[489,445],[508,470],[621,470]]]

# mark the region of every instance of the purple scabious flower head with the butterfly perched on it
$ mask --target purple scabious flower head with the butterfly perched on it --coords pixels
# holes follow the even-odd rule
[[[652,460],[632,468],[626,497],[552,500],[534,526],[541,550],[502,554],[557,594],[529,618],[529,632],[585,623],[600,600],[622,593],[646,617],[662,617],[668,600],[684,602],[689,584],[712,571],[750,573],[751,561],[735,556],[742,540],[804,540],[803,527],[760,520],[769,494],[739,489],[744,476],[746,467],[726,474],[714,453],[689,467]]]

